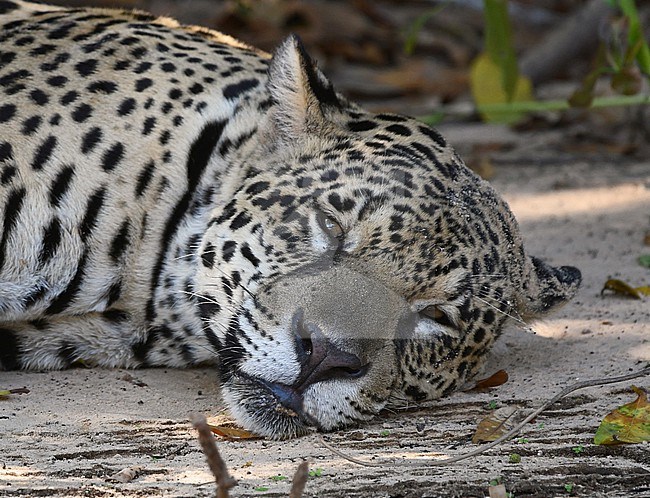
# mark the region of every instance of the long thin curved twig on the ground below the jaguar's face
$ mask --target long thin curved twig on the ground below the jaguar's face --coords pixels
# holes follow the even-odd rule
[[[445,458],[444,460],[426,460],[425,461],[408,461],[408,462],[390,462],[390,465],[393,466],[405,466],[405,467],[439,467],[441,465],[448,465],[451,463],[456,463],[460,462],[461,460],[466,460],[468,458],[475,457],[477,455],[480,455],[481,453],[485,453],[487,450],[494,448],[495,446],[498,446],[509,439],[512,439],[515,437],[517,434],[521,432],[521,429],[523,429],[528,422],[533,420],[535,417],[537,417],[540,413],[542,413],[544,410],[546,410],[549,406],[552,404],[556,403],[560,399],[564,398],[566,395],[572,393],[573,391],[577,391],[578,389],[585,389],[587,387],[594,387],[594,386],[604,386],[607,384],[615,384],[617,382],[624,382],[626,380],[632,380],[636,379],[638,377],[643,377],[645,375],[650,375],[650,367],[644,368],[643,370],[639,370],[638,372],[628,374],[628,375],[621,375],[619,377],[612,377],[611,379],[593,379],[593,380],[585,380],[582,382],[576,382],[575,384],[570,385],[569,387],[564,388],[562,391],[560,391],[557,395],[555,395],[553,398],[548,400],[546,403],[544,403],[542,406],[540,406],[537,410],[533,411],[530,413],[524,420],[522,420],[517,426],[513,427],[511,430],[506,432],[503,436],[501,436],[499,439],[496,441],[492,441],[491,443],[487,443],[480,448],[477,448],[472,451],[468,451],[467,453],[463,453],[461,455],[456,455],[454,457],[450,458]],[[319,436],[319,441],[320,443],[325,446],[328,450],[330,450],[332,453],[335,455],[344,458],[345,460],[348,460],[349,462],[356,463],[357,465],[363,465],[365,467],[385,467],[387,465],[387,462],[367,462],[365,460],[360,460],[358,458],[351,457],[349,455],[346,455],[342,451],[334,448],[331,444],[326,442],[322,436]]]

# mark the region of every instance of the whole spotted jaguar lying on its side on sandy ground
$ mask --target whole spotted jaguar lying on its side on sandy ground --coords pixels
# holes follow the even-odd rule
[[[140,11],[0,1],[0,369],[212,365],[289,438],[433,400],[581,275],[432,128]]]

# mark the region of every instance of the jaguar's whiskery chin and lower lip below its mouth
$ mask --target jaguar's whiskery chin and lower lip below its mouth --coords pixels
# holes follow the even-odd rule
[[[290,439],[321,429],[302,408],[302,399],[290,399],[280,386],[233,374],[222,385],[223,397],[233,417],[244,428],[271,439]]]

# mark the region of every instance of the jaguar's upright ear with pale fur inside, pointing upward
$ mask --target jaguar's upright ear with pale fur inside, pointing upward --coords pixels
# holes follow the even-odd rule
[[[292,143],[307,132],[318,133],[327,106],[340,107],[332,84],[318,70],[300,38],[291,35],[276,49],[269,67],[268,89],[276,139]]]

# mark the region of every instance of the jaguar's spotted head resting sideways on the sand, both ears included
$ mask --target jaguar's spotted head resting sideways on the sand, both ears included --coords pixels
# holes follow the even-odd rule
[[[248,429],[333,430],[444,395],[507,317],[576,292],[579,271],[530,258],[506,203],[442,137],[345,102],[295,38],[268,90],[197,279],[225,399]]]

